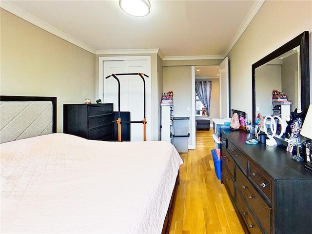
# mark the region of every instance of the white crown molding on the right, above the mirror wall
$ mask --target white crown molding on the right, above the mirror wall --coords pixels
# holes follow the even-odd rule
[[[238,39],[242,36],[242,34],[245,32],[248,25],[251,23],[251,21],[254,19],[255,15],[261,8],[262,4],[265,2],[265,0],[255,0],[251,8],[249,9],[247,15],[245,16],[242,23],[239,25],[238,29],[236,30],[234,37],[232,38],[228,49],[223,54],[223,57],[227,57],[227,55],[230,53]]]

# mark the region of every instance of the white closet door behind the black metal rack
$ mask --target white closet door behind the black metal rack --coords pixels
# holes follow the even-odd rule
[[[119,73],[144,73],[146,92],[146,140],[152,137],[151,117],[151,64],[149,60],[104,61],[104,77]],[[144,86],[139,75],[117,76],[120,81],[120,111],[130,111],[131,121],[141,121],[144,117]],[[118,82],[114,77],[104,78],[104,102],[114,103],[114,111],[118,111]],[[122,121],[122,119],[121,119]],[[143,124],[131,124],[131,141],[143,140]]]

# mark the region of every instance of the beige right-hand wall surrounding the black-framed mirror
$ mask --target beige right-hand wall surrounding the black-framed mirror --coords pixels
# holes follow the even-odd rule
[[[312,1],[264,2],[228,55],[231,108],[246,111],[252,117],[252,64],[303,31],[312,31]]]

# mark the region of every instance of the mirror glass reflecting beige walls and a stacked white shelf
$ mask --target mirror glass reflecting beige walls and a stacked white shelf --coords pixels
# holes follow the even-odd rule
[[[290,116],[291,111],[296,108],[301,110],[298,68],[300,68],[300,46],[255,69],[257,113],[261,113],[263,117],[279,116],[286,126],[285,118]],[[283,95],[273,96],[273,90],[283,92]]]

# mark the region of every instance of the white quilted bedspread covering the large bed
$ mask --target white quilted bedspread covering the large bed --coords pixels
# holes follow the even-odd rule
[[[183,163],[163,141],[49,134],[0,147],[1,233],[161,233]]]

